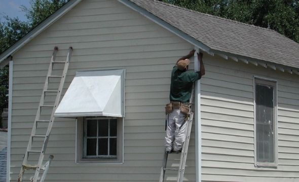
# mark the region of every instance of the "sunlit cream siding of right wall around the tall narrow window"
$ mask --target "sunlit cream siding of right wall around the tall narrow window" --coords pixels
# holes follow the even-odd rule
[[[298,76],[205,55],[202,181],[299,181]],[[254,167],[253,77],[277,81],[278,167]]]

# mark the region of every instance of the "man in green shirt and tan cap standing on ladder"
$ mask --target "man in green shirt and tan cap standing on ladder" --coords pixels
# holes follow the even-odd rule
[[[200,71],[188,70],[190,60],[195,50],[176,62],[171,72],[170,103],[166,105],[166,136],[165,151],[180,153],[185,141],[186,116],[189,113],[189,101],[193,83],[205,75],[205,67],[202,62],[202,53],[197,53],[200,62]]]

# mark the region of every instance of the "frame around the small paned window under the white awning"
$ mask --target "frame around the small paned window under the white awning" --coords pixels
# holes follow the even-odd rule
[[[86,119],[117,119],[117,157],[100,158],[84,156],[84,122]],[[123,164],[124,161],[124,118],[116,117],[80,117],[76,120],[76,164]]]

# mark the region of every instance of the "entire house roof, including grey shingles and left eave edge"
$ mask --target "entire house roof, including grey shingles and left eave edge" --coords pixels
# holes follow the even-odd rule
[[[1,54],[0,67],[8,62],[6,58],[22,48],[81,1],[69,1]],[[247,60],[256,61],[265,67],[266,63],[270,62],[278,66],[287,66],[287,68],[299,68],[299,44],[274,30],[191,11],[156,0],[118,1],[156,23],[163,24],[168,30],[175,32],[181,38],[210,54],[216,53],[224,55],[225,58],[231,57],[234,60],[240,59],[244,62]],[[253,63],[257,64],[256,62]],[[275,66],[272,67],[275,68]],[[298,74],[298,71],[296,73]]]

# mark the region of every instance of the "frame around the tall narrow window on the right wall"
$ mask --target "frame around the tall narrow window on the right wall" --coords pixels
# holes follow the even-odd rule
[[[273,128],[274,128],[274,163],[258,162],[257,161],[257,123],[256,123],[256,84],[273,87]],[[278,166],[278,84],[277,80],[253,77],[253,102],[254,102],[254,166],[255,167],[277,167]]]

